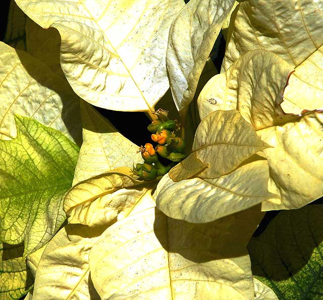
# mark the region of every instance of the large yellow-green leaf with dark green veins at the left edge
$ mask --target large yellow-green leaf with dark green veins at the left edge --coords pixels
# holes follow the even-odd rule
[[[71,186],[79,149],[57,130],[15,119],[17,138],[0,141],[0,238],[24,242],[26,256],[46,244],[65,219],[62,195]]]

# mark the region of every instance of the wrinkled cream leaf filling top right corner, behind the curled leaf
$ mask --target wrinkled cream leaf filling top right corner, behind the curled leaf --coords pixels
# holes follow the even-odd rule
[[[323,108],[321,1],[246,1],[240,4],[230,30],[223,71],[247,51],[266,49],[295,68],[284,94],[284,110],[300,113]]]

